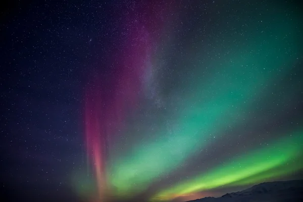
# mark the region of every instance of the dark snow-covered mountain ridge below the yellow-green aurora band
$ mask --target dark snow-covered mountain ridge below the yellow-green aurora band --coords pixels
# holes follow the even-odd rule
[[[265,182],[221,197],[187,202],[297,202],[303,201],[303,180]]]

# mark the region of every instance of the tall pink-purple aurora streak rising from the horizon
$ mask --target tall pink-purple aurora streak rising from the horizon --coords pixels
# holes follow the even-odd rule
[[[121,128],[126,110],[136,107],[144,70],[159,39],[155,26],[159,29],[161,23],[155,15],[159,18],[161,12],[155,8],[148,10],[140,10],[145,15],[143,18],[138,18],[138,12],[126,14],[125,19],[128,20],[122,25],[122,30],[126,30],[123,33],[126,40],[120,45],[117,58],[113,57],[115,62],[111,65],[111,76],[104,80],[98,74],[93,75],[85,89],[87,158],[93,167],[100,201],[107,200],[104,193],[109,191],[105,167],[108,139]],[[151,13],[153,15],[148,15]],[[146,22],[153,23],[146,25]],[[150,34],[151,30],[153,34]]]

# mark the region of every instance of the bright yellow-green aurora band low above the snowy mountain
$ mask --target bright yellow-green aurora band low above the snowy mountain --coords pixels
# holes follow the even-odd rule
[[[225,162],[194,179],[164,190],[153,200],[171,199],[178,195],[210,190],[224,185],[258,183],[264,179],[273,179],[297,171],[303,166],[303,162],[298,161],[303,152],[302,147],[303,130],[300,130],[263,148]],[[272,169],[283,165],[287,166],[273,172]]]

